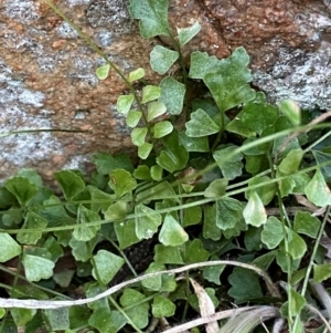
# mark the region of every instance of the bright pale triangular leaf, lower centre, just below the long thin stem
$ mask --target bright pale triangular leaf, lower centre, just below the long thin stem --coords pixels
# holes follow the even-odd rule
[[[189,235],[185,232],[185,230],[172,217],[172,215],[167,214],[159,233],[159,241],[166,247],[178,247],[188,240]]]

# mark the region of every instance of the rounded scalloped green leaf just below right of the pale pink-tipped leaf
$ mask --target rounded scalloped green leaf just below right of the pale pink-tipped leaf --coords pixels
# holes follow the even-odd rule
[[[260,235],[260,240],[268,249],[275,249],[284,239],[281,222],[274,216],[268,217]]]

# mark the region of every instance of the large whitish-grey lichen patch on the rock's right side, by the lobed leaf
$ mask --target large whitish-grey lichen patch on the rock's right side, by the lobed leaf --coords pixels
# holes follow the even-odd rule
[[[325,42],[316,52],[279,49],[268,72],[255,71],[254,84],[273,102],[291,98],[303,108],[331,107],[331,46]]]

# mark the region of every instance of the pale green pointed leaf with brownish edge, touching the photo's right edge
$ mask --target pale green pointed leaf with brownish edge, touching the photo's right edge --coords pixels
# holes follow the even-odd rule
[[[305,192],[308,200],[316,206],[324,207],[331,205],[330,189],[319,169],[306,186]]]

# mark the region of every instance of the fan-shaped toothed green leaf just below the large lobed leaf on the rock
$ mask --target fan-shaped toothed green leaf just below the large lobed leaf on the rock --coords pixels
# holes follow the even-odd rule
[[[202,108],[191,113],[191,121],[186,122],[186,135],[191,137],[207,136],[220,132],[220,126]]]

